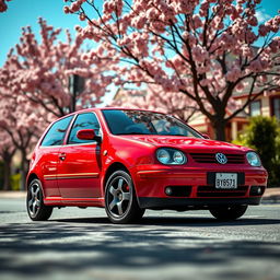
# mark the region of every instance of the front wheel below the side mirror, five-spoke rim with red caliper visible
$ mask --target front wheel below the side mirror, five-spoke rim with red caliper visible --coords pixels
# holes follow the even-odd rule
[[[113,223],[131,223],[143,217],[144,209],[138,205],[133,183],[127,172],[116,171],[107,179],[105,210]]]

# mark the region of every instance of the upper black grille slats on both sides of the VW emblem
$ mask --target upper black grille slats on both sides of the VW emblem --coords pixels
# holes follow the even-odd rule
[[[225,153],[224,155],[230,164],[243,164],[245,160],[244,154]],[[198,163],[218,163],[215,153],[190,153],[190,156]]]

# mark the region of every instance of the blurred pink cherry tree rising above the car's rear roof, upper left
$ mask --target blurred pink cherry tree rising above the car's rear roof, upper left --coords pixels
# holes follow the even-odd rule
[[[47,25],[43,19],[39,25],[40,42],[31,27],[23,28],[20,43],[0,69],[0,86],[56,117],[101,103],[112,82],[112,77],[106,74],[108,63],[94,57],[89,59],[82,50],[81,36],[72,39],[66,31],[67,42],[58,42],[60,28]],[[83,86],[71,89],[71,78],[80,78]]]

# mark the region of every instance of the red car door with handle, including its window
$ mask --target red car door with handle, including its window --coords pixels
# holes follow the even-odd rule
[[[77,132],[101,126],[93,112],[79,114],[74,119],[67,142],[59,150],[58,187],[62,198],[82,199],[101,197],[101,145],[95,140],[81,140]]]

